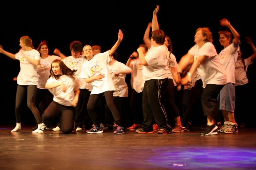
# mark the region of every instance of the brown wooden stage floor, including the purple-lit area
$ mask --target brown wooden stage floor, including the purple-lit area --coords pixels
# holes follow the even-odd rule
[[[0,125],[0,170],[254,170],[256,129],[201,136],[201,127],[171,134],[125,131],[68,135],[10,132]]]

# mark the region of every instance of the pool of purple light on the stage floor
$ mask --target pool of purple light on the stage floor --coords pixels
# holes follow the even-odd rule
[[[227,147],[163,147],[148,162],[168,169],[256,168],[256,149]],[[180,165],[180,166],[174,166]],[[183,166],[181,166],[183,165]]]

